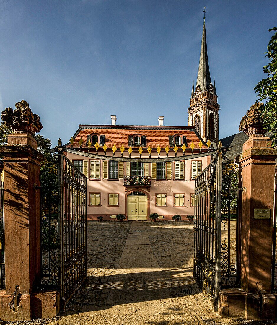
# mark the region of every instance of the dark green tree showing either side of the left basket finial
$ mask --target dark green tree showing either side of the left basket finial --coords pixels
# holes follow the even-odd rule
[[[1,122],[0,124],[0,145],[5,145],[8,142],[8,135],[10,133],[13,133],[13,130],[10,126],[6,126],[4,122]],[[35,134],[34,138],[37,141],[38,144],[38,151],[44,154],[44,157],[49,161],[52,159],[52,155],[49,152],[49,149],[51,148],[51,140],[48,138],[44,138],[40,134]],[[3,159],[3,156],[0,157],[1,160]]]

